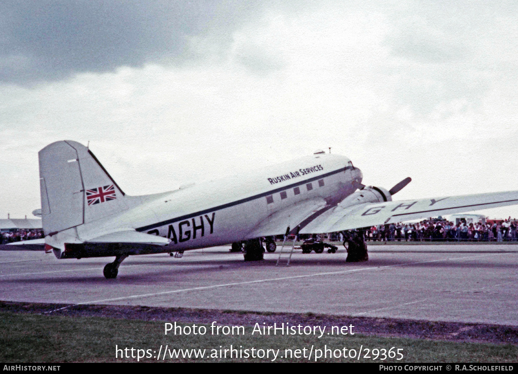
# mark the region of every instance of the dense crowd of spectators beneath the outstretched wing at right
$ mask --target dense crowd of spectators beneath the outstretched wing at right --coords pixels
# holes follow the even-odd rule
[[[454,224],[451,221],[430,219],[419,223],[391,223],[379,225],[364,230],[367,241],[479,241],[479,242],[506,242],[517,239],[516,220],[509,219],[493,222]]]

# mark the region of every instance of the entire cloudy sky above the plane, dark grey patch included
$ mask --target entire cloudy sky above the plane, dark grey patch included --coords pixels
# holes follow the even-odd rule
[[[130,195],[328,147],[397,200],[515,190],[516,87],[515,1],[4,0],[0,218],[65,139]]]

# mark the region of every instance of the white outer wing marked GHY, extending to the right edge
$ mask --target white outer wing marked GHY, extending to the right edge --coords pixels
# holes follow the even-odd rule
[[[363,203],[329,209],[312,220],[300,233],[325,233],[351,230],[384,223],[471,212],[518,204],[518,191],[479,193],[430,199]]]

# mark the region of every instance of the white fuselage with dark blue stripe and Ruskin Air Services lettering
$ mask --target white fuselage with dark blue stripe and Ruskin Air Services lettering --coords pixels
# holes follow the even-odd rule
[[[223,245],[257,237],[254,228],[292,204],[337,204],[361,182],[361,171],[347,157],[308,156],[161,194],[104,223],[167,237],[164,251]]]

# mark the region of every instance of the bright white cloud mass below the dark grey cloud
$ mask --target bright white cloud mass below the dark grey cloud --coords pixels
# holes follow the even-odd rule
[[[271,10],[228,49],[217,35],[191,38],[203,58],[189,65],[0,86],[0,217],[38,207],[37,152],[62,139],[90,141],[130,194],[329,146],[367,184],[412,176],[398,199],[516,189],[502,178],[517,156],[518,39],[503,33],[514,35],[515,14],[463,24],[441,10]]]

